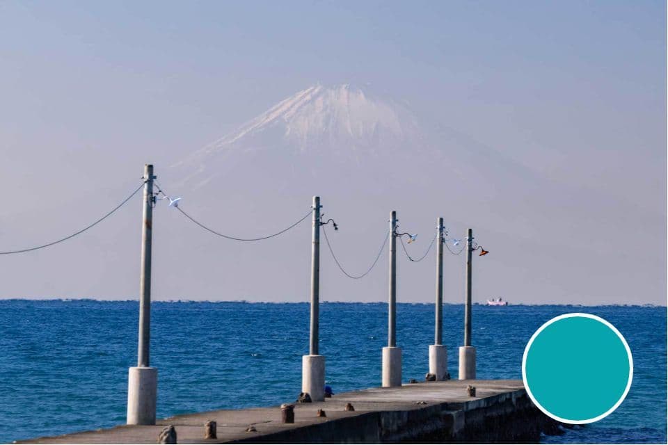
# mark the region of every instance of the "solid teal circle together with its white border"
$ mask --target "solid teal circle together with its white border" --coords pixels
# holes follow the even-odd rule
[[[591,423],[617,409],[633,380],[633,357],[612,324],[591,314],[565,314],[533,334],[524,350],[527,394],[548,416]]]

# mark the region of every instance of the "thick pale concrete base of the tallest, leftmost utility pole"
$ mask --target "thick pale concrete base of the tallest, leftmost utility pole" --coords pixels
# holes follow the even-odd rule
[[[155,425],[158,370],[132,367],[127,382],[127,424]]]

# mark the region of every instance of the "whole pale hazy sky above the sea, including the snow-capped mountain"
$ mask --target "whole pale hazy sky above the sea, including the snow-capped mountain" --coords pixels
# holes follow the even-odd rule
[[[665,2],[63,1],[0,6],[0,251],[86,227],[153,163],[225,234],[321,195],[353,274],[395,209],[411,254],[438,216],[474,229],[477,301],[665,304]],[[235,243],[154,216],[154,299],[308,299],[308,222]],[[141,227],[135,197],[0,255],[0,298],[136,299]],[[431,302],[433,252],[399,254],[399,301]],[[386,300],[387,252],[357,281],[321,259],[324,300]]]

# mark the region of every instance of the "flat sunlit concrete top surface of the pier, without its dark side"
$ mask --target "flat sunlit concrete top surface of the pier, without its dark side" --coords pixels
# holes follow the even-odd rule
[[[476,397],[469,397],[468,385],[477,389]],[[156,444],[161,430],[172,425],[176,428],[179,444],[225,442],[275,442],[277,432],[296,430],[318,423],[327,423],[345,417],[364,416],[369,412],[410,412],[430,405],[441,405],[447,410],[467,410],[471,401],[490,399],[503,394],[525,394],[521,380],[447,380],[445,382],[420,382],[404,384],[396,388],[372,388],[335,394],[319,403],[296,403],[294,423],[281,423],[280,407],[249,408],[244,410],[217,410],[195,414],[182,414],[159,419],[154,426],[116,426],[114,428],[76,432],[67,435],[40,437],[17,443],[38,444]],[[287,402],[287,401],[286,401]],[[344,411],[351,403],[355,411]],[[445,405],[444,405],[445,404]],[[452,404],[452,405],[451,405]],[[317,417],[318,409],[325,410],[326,417]],[[471,408],[472,409],[472,408]],[[217,422],[217,439],[204,439],[204,423]],[[257,432],[246,432],[248,426]],[[296,432],[296,431],[295,431]],[[309,442],[308,440],[305,442]],[[327,442],[324,438],[320,442]]]

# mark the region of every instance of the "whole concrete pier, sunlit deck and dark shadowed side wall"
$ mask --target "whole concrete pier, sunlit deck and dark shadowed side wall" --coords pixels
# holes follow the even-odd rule
[[[476,396],[466,387],[474,385]],[[350,403],[354,411],[344,407]],[[325,417],[317,416],[324,410]],[[205,423],[217,438],[204,439]],[[448,380],[336,394],[319,403],[296,404],[294,423],[281,423],[280,408],[186,414],[154,426],[123,425],[23,441],[39,444],[155,444],[165,426],[178,443],[389,443],[538,442],[557,423],[531,402],[521,380]],[[249,426],[251,432],[247,432]]]

